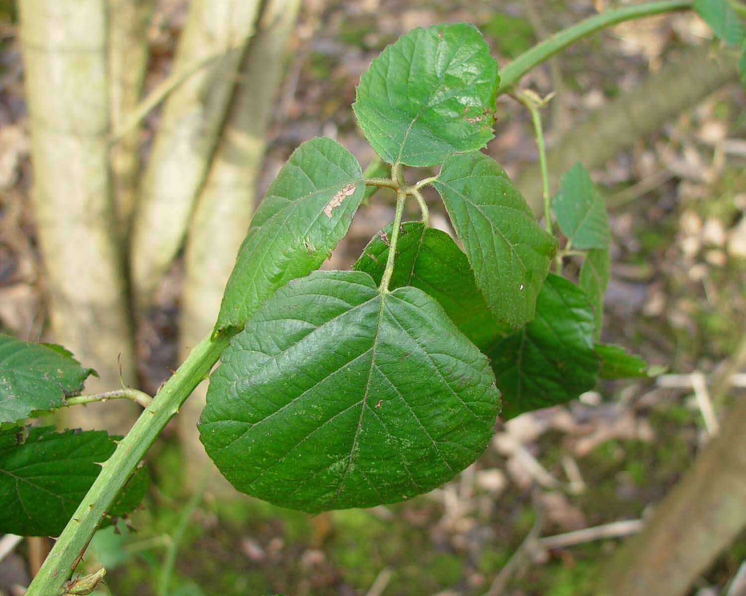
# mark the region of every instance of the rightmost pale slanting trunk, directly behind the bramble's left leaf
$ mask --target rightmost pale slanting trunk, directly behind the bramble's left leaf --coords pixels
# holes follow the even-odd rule
[[[251,222],[267,127],[298,4],[299,0],[266,2],[242,62],[228,119],[189,226],[179,344],[183,350],[215,324],[225,283]],[[197,470],[207,459],[196,429],[206,391],[205,382],[178,416],[186,478],[198,478]],[[210,486],[215,491],[222,484],[216,481]]]

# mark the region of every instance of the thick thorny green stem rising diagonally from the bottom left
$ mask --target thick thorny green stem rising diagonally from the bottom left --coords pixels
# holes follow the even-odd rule
[[[72,573],[119,490],[184,400],[210,374],[213,364],[228,346],[230,335],[222,332],[212,340],[209,336],[201,340],[189,353],[184,364],[156,393],[153,402],[143,410],[127,436],[116,446],[113,455],[101,464],[98,478],[54,543],[54,548],[31,586],[28,586],[26,596],[60,594],[63,583]]]

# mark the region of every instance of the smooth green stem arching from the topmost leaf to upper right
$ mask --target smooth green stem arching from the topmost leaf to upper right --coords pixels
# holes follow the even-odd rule
[[[533,69],[534,66],[551,58],[568,45],[577,42],[578,39],[583,39],[583,37],[595,34],[596,31],[601,31],[601,29],[617,25],[624,21],[642,19],[645,16],[670,13],[676,10],[687,10],[689,8],[692,8],[692,0],[662,0],[614,10],[604,10],[602,13],[580,21],[567,29],[559,31],[552,37],[548,37],[543,42],[534,45],[530,50],[524,51],[523,54],[507,64],[500,71],[498,95],[507,92],[510,87],[518,83],[518,80]]]

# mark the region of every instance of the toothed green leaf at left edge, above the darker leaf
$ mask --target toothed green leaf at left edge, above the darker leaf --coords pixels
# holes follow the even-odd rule
[[[81,393],[93,369],[81,367],[62,346],[0,334],[0,423],[61,408]]]

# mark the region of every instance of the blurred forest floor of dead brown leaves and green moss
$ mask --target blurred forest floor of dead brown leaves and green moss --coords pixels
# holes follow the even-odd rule
[[[350,108],[354,86],[372,57],[410,28],[474,22],[503,64],[534,42],[535,31],[577,22],[592,14],[593,4],[599,3],[305,1],[276,102],[263,188],[289,153],[313,136],[335,137],[363,164],[372,158]],[[159,2],[148,86],[168,71],[184,5]],[[0,2],[0,331],[40,339],[46,295],[30,209],[28,121],[11,12]],[[706,35],[694,16],[676,15],[619,26],[573,46],[560,57],[562,88],[545,110],[550,143],[687,45],[706,43]],[[554,87],[546,67],[523,84],[542,94]],[[488,151],[515,174],[536,158],[530,122],[510,98],[501,99],[498,112]],[[146,134],[157,119],[157,112],[148,118]],[[108,570],[107,585],[95,594],[166,596],[158,586],[169,548],[178,548],[170,596],[472,596],[493,583],[494,595],[592,594],[619,538],[586,537],[566,545],[547,538],[612,522],[629,522],[622,532],[639,527],[637,520],[709,439],[703,396],[698,401],[687,386],[692,373],[716,373],[746,332],[742,89],[725,86],[593,174],[607,197],[613,235],[602,340],[665,367],[662,378],[605,383],[568,407],[498,422],[477,463],[428,495],[314,517],[240,495],[225,501],[210,486],[190,501],[169,428],[148,454],[153,482],[144,506],[126,524],[99,531],[90,546],[87,568]],[[641,180],[657,182],[641,188]],[[392,218],[390,198],[375,195],[325,267],[349,267]],[[427,199],[433,224],[448,229],[436,197]],[[154,357],[143,367],[148,390],[169,374],[175,358],[180,272],[177,265],[160,293]],[[682,386],[664,386],[677,383]],[[733,389],[728,399],[743,395]],[[718,413],[727,415],[728,399],[714,403]],[[180,536],[184,520],[190,523]],[[27,573],[29,549],[22,544],[0,563],[0,591],[4,577]],[[742,536],[693,593],[725,595],[745,559]]]

